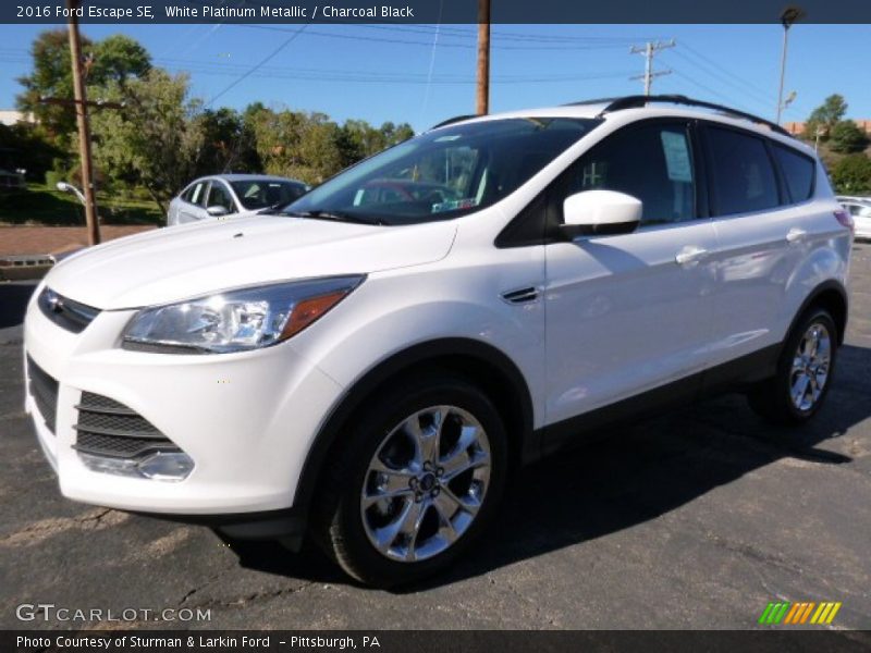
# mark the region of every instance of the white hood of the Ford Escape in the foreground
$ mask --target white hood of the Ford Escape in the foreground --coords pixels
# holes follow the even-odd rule
[[[370,226],[256,217],[160,229],[90,247],[46,276],[54,292],[111,310],[164,304],[231,287],[371,273],[444,258],[452,222]]]

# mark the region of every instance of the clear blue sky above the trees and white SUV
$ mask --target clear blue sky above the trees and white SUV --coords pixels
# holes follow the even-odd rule
[[[46,26],[0,25],[0,109],[14,107],[15,78]],[[85,25],[101,39],[123,33],[156,65],[191,74],[211,108],[320,111],[333,120],[407,122],[422,131],[475,112],[475,25]],[[641,93],[645,60],[633,45],[675,39],[654,67],[671,74],[653,93],[684,94],[773,119],[783,28],[778,25],[494,25],[491,112]],[[871,119],[871,25],[789,30],[785,121],[801,121],[833,93],[848,118]]]

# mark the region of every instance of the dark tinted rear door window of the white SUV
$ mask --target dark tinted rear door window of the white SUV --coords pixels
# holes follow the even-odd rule
[[[764,211],[780,204],[765,143],[733,130],[708,128],[714,214]]]

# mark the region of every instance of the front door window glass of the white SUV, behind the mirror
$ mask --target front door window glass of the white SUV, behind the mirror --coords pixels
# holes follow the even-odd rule
[[[643,224],[695,219],[696,181],[686,125],[643,125],[608,137],[568,170],[563,198],[592,189],[640,199]]]

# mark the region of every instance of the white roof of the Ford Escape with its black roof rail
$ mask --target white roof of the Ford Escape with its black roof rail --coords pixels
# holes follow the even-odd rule
[[[624,98],[587,100],[556,107],[506,111],[481,116],[458,116],[436,125],[433,130],[461,123],[487,122],[490,120],[513,118],[599,119],[604,121],[616,120],[625,124],[642,118],[703,119],[756,132],[761,136],[781,141],[784,145],[801,150],[814,159],[817,158],[812,147],[798,140],[784,131],[783,127],[771,121],[736,109],[703,100],[694,100],[684,96],[650,96],[649,98],[645,96],[627,96]]]

